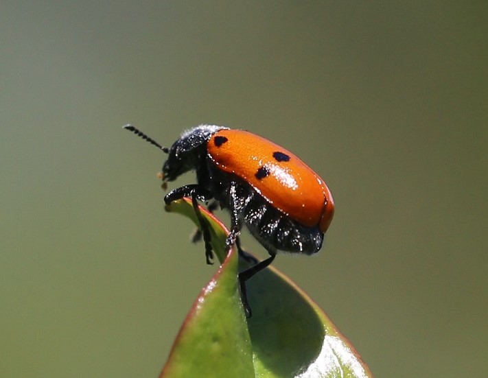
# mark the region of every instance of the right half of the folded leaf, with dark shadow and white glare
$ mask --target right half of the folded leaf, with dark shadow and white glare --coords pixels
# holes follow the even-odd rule
[[[248,282],[257,377],[373,377],[325,312],[275,268]]]

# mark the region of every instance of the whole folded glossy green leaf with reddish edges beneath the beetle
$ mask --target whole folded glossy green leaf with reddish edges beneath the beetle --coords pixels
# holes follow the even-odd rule
[[[167,206],[196,224],[191,202]],[[275,268],[247,283],[253,317],[246,320],[237,285],[237,253],[225,256],[225,226],[209,222],[218,272],[196,299],[161,378],[174,377],[373,377],[327,317],[297,285]]]

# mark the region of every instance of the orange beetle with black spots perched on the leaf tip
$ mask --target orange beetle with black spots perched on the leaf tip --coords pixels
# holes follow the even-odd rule
[[[200,223],[207,263],[212,263],[210,233],[198,201],[215,200],[231,215],[226,248],[233,244],[243,257],[239,235],[243,226],[266,248],[269,257],[255,261],[240,272],[242,301],[247,316],[251,307],[246,281],[266,268],[278,251],[312,255],[321,249],[325,231],[334,216],[334,200],[325,181],[292,152],[245,130],[200,125],[191,128],[171,147],[163,147],[132,125],[124,126],[167,156],[163,164],[163,187],[194,170],[196,184],[184,185],[166,194],[170,204],[187,197]]]

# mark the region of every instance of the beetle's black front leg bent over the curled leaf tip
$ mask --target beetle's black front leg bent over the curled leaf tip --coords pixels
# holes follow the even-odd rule
[[[203,233],[203,241],[205,242],[205,259],[207,260],[207,264],[213,264],[213,252],[212,246],[210,244],[211,236],[209,231],[209,225],[207,221],[203,217],[200,208],[198,207],[198,200],[205,201],[210,199],[211,193],[206,189],[202,189],[198,185],[185,185],[184,187],[176,188],[164,198],[166,204],[170,204],[173,201],[180,200],[183,197],[190,197],[191,204],[193,205],[193,209],[195,211],[196,218],[198,223],[200,224],[200,229]]]

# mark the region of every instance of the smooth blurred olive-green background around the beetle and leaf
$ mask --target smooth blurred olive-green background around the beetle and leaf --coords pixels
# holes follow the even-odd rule
[[[156,377],[215,272],[132,122],[301,156],[336,217],[321,253],[275,265],[376,377],[488,377],[487,8],[3,1],[0,376]]]

